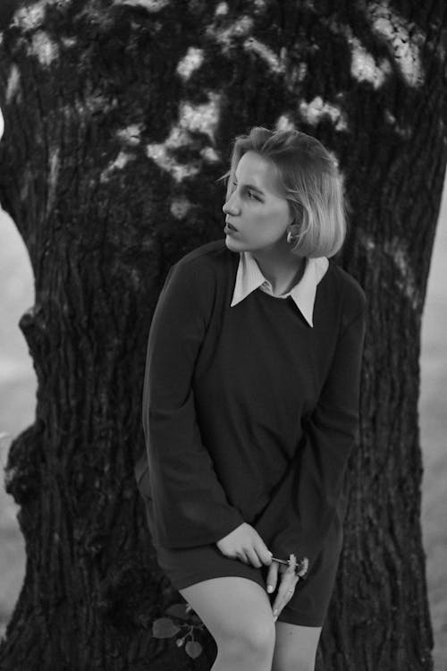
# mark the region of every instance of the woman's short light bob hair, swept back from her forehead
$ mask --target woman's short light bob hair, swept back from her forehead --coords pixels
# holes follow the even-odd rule
[[[240,157],[247,151],[256,151],[271,161],[277,188],[289,201],[296,225],[291,251],[299,257],[334,256],[347,234],[347,206],[336,159],[305,132],[269,131],[255,126],[249,135],[238,135],[233,140],[231,168],[219,178],[230,178],[226,200],[233,190]]]

